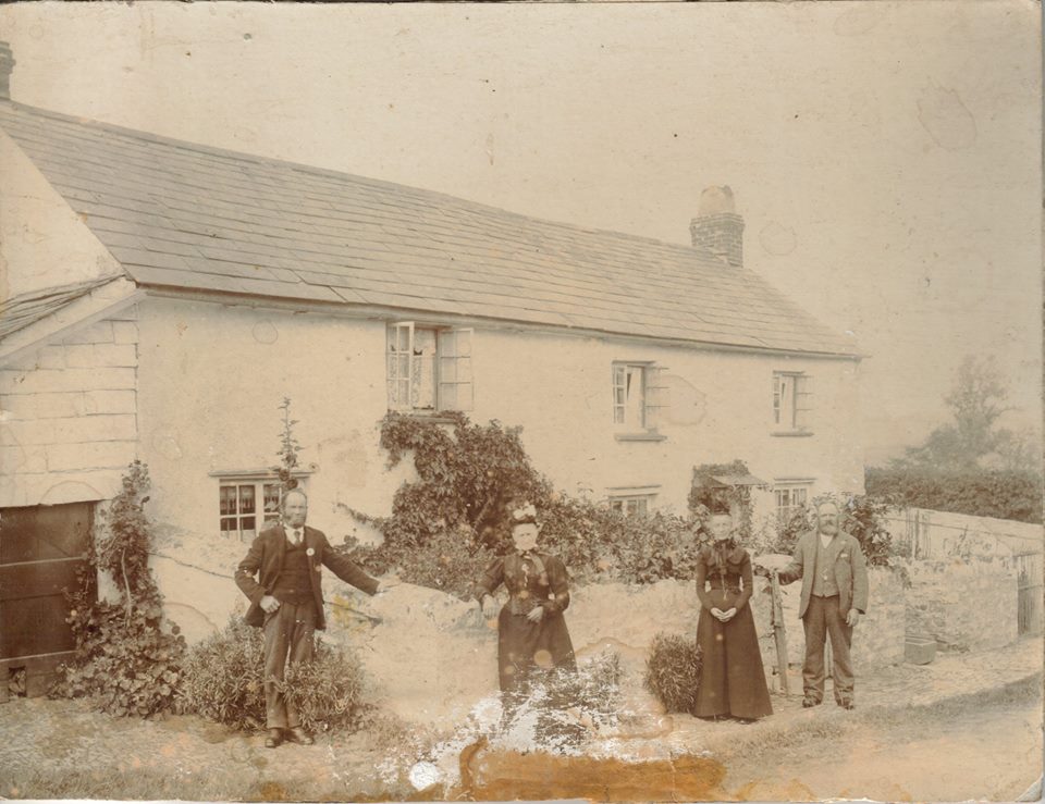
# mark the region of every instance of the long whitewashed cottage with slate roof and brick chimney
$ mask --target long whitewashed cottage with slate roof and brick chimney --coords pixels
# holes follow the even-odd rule
[[[390,409],[520,424],[560,487],[626,512],[684,510],[693,466],[735,458],[766,509],[862,491],[859,356],[743,264],[728,188],[673,245],[27,107],[12,66],[0,48],[0,572],[38,577],[4,595],[57,594],[135,458],[157,521],[249,541],[284,397],[335,541],[406,477]],[[0,659],[67,647],[33,642],[60,631],[46,601],[24,628],[0,605],[25,641]]]

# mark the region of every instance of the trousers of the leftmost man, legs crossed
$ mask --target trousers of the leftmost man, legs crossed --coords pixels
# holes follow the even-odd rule
[[[291,665],[312,658],[316,607],[283,603],[265,618],[265,719],[270,729],[300,726],[297,707],[279,691],[287,658]]]

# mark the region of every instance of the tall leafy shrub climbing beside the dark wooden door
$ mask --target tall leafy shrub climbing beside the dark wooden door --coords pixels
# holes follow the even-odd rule
[[[151,533],[143,510],[148,490],[148,469],[135,461],[106,515],[106,533],[91,533],[77,589],[65,592],[75,655],[59,668],[51,690],[56,697],[95,698],[102,712],[119,717],[172,708],[182,680],[185,640],[177,626],[164,622],[148,568]],[[119,602],[96,601],[99,569],[112,576]]]

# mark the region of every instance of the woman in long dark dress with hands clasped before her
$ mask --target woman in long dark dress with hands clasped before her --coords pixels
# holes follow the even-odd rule
[[[703,664],[693,714],[750,722],[773,714],[751,615],[751,559],[733,535],[733,517],[711,518],[713,543],[700,552],[697,641]]]

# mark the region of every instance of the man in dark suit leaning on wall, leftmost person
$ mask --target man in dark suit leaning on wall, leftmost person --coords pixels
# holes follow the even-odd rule
[[[265,712],[269,730],[265,744],[270,749],[282,743],[284,735],[291,742],[312,743],[302,728],[296,707],[270,679],[283,680],[287,658],[291,665],[312,658],[314,632],[327,627],[320,585],[322,565],[368,595],[377,594],[379,586],[377,580],[335,553],[321,531],[305,525],[308,498],[303,491],[286,492],[280,510],[281,522],[254,540],[235,576],[236,585],[250,599],[247,623],[265,629]],[[395,583],[384,581],[382,591]]]

